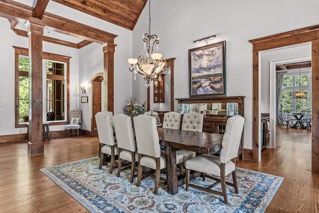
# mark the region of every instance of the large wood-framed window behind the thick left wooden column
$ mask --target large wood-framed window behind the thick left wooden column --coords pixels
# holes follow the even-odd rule
[[[29,59],[28,49],[15,48],[15,126],[23,127],[23,123],[28,121],[29,113]],[[43,115],[50,122],[65,124],[69,112],[69,58],[67,56],[52,53],[42,53],[43,63],[46,67],[46,100],[43,100],[43,108],[46,114]],[[65,114],[66,112],[66,114]]]

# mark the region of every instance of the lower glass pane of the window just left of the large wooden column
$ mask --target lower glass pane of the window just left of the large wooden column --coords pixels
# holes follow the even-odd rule
[[[19,121],[29,115],[29,77],[19,76]]]

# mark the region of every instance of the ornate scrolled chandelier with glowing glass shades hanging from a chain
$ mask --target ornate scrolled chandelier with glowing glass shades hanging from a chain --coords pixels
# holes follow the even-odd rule
[[[136,73],[143,76],[145,86],[152,85],[151,81],[158,78],[161,81],[160,74],[165,71],[167,63],[160,53],[153,53],[153,47],[156,45],[156,50],[159,50],[160,36],[151,34],[151,0],[149,0],[149,33],[143,34],[144,49],[146,49],[146,57],[140,55],[138,59],[129,58],[129,70],[134,71],[134,80],[136,80]],[[150,56],[153,59],[151,62]],[[168,71],[170,74],[170,69]]]

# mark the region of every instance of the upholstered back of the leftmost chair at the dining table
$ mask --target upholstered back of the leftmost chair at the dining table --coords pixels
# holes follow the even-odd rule
[[[113,128],[111,118],[104,113],[95,114],[96,127],[98,128],[98,136],[101,144],[114,146]]]

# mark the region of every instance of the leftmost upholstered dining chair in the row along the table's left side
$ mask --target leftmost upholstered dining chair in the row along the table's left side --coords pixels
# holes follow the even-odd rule
[[[97,113],[95,115],[96,127],[98,129],[100,144],[103,144],[100,153],[100,166],[102,168],[103,160],[105,155],[110,156],[110,174],[113,173],[115,156],[119,154],[118,147],[115,145],[113,136],[113,128],[111,125],[111,118],[105,113]]]

